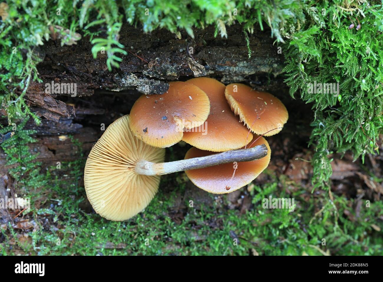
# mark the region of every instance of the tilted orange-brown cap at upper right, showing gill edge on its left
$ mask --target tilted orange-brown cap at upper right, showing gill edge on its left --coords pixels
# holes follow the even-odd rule
[[[262,135],[269,130],[283,127],[288,120],[285,105],[270,93],[232,83],[226,86],[225,97],[234,114],[239,115],[241,122],[245,122],[247,128],[251,127],[255,134]],[[277,134],[281,130],[272,130],[265,136]]]

